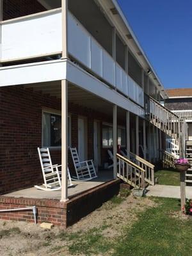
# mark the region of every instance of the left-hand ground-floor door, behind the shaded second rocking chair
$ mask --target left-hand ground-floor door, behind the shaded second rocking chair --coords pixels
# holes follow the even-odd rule
[[[80,161],[85,159],[85,120],[84,118],[78,118],[78,154]]]

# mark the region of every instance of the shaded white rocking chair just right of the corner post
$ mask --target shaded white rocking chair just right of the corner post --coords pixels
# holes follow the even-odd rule
[[[97,178],[95,166],[93,165],[93,160],[79,161],[77,148],[70,148],[70,152],[77,175],[76,177],[72,177],[72,180],[92,180]]]

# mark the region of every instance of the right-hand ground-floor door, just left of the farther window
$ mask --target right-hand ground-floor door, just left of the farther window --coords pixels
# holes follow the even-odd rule
[[[100,122],[95,120],[94,121],[94,164],[95,169],[98,172],[98,166],[100,165]]]

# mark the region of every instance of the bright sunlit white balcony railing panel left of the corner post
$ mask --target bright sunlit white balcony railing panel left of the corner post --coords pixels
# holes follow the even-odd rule
[[[62,51],[61,8],[0,22],[1,61],[13,61]]]

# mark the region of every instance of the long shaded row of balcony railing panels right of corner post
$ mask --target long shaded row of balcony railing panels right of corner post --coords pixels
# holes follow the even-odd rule
[[[118,91],[144,106],[143,89],[71,13],[68,13],[68,52]]]

